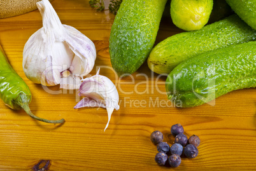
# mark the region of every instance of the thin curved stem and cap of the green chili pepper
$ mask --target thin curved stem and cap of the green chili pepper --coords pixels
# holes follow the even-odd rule
[[[25,95],[24,93],[20,93],[20,95],[18,95],[17,99],[13,100],[13,102],[22,107],[22,109],[24,109],[24,111],[31,116],[31,118],[38,120],[38,121],[43,121],[46,123],[64,123],[64,119],[61,120],[46,120],[43,118],[39,118],[38,116],[35,116],[34,114],[32,114],[31,109],[29,108],[29,102],[31,100],[31,97],[29,95]]]

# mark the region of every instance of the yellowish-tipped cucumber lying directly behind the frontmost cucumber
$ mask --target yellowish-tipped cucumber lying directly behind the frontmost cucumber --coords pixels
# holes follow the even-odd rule
[[[199,31],[181,32],[160,42],[148,57],[148,67],[158,74],[169,74],[200,53],[255,39],[256,31],[234,14]]]

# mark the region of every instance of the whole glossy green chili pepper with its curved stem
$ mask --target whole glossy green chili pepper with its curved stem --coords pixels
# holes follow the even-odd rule
[[[17,72],[9,64],[3,48],[0,45],[0,98],[6,106],[11,109],[24,111],[32,118],[46,123],[63,123],[65,120],[45,120],[34,116],[29,109],[31,102],[31,92],[25,81],[18,76]]]

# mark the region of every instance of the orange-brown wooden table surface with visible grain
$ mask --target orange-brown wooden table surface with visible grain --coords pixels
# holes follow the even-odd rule
[[[106,109],[73,109],[75,91],[53,95],[32,83],[22,70],[22,51],[27,39],[42,27],[38,10],[0,19],[0,44],[15,71],[32,92],[31,110],[50,120],[64,118],[63,125],[32,120],[24,111],[13,111],[0,103],[0,170],[31,170],[40,160],[51,160],[49,170],[174,170],[154,161],[156,146],[150,133],[160,130],[173,144],[171,125],[181,123],[185,134],[201,139],[199,155],[182,158],[175,170],[255,170],[256,90],[237,90],[211,104],[179,109],[167,101],[164,81],[144,64],[131,77],[118,80],[111,70],[108,53],[110,29],[115,18],[96,12],[88,0],[55,0],[52,3],[62,24],[75,27],[92,39],[101,67],[120,95],[120,109],[110,125]],[[157,42],[181,32],[166,18],[160,24]],[[148,79],[146,78],[148,77]],[[57,91],[59,86],[50,90]]]

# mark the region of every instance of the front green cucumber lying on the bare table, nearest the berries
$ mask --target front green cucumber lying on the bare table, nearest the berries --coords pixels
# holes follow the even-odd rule
[[[256,42],[219,48],[178,65],[166,92],[178,107],[194,107],[233,90],[256,86]]]

